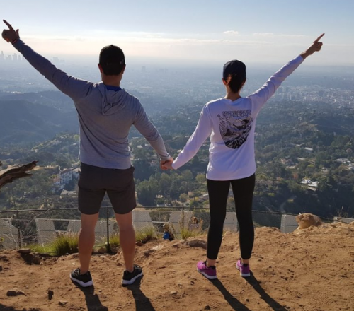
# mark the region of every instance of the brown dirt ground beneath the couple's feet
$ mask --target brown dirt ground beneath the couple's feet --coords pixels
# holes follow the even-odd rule
[[[354,223],[287,234],[257,228],[247,279],[234,267],[237,233],[224,235],[218,279],[208,281],[198,274],[195,264],[205,259],[205,239],[155,240],[137,247],[136,262],[144,277],[128,287],[120,285],[120,254],[94,255],[94,287],[82,289],[69,280],[79,264],[76,254],[26,264],[18,252],[2,251],[0,310],[354,310]],[[8,296],[9,291],[21,293]]]

